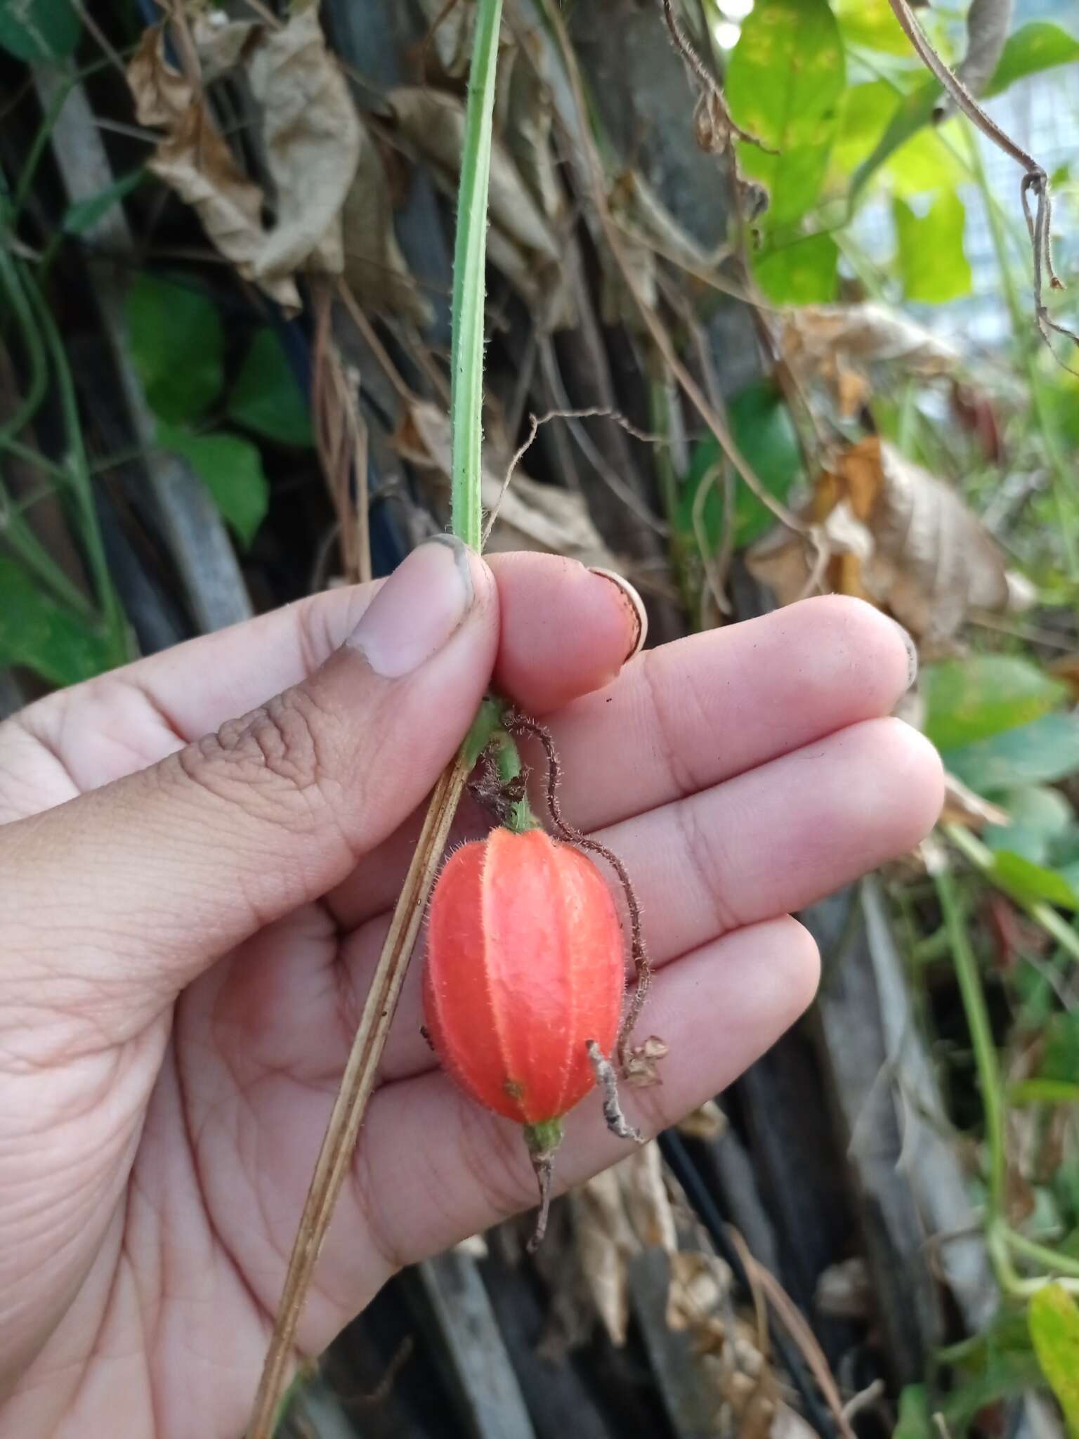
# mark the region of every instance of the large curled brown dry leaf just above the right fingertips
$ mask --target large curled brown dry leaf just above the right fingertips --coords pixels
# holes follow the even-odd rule
[[[1026,581],[955,491],[876,436],[820,475],[801,518],[823,555],[784,527],[748,555],[781,604],[816,587],[855,594],[889,610],[925,652],[947,652],[971,610],[1023,603]]]

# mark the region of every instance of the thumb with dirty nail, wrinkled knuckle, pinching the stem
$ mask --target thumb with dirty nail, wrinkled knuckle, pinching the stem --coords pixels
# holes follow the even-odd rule
[[[134,1032],[226,950],[340,884],[423,800],[496,645],[483,561],[449,537],[420,545],[304,684],[0,829],[4,970],[35,1009],[106,1009],[111,1030]]]

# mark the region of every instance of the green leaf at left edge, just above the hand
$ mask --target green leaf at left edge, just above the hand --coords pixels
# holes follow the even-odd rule
[[[104,630],[42,590],[14,560],[0,558],[0,669],[24,665],[50,685],[73,685],[115,663]]]

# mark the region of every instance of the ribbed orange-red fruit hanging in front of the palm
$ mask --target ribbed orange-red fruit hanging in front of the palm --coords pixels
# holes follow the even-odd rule
[[[541,829],[496,829],[446,863],[430,904],[424,1022],[442,1065],[481,1104],[534,1125],[594,1084],[624,990],[614,901],[596,865]]]

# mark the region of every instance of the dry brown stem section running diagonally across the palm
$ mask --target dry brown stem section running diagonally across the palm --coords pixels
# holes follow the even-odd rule
[[[401,896],[394,908],[390,930],[383,943],[378,967],[348,1056],[341,1088],[329,1115],[315,1173],[304,1203],[299,1229],[285,1275],[285,1288],[278,1308],[273,1334],[255,1397],[247,1439],[272,1439],[278,1396],[295,1350],[296,1327],[304,1298],[315,1271],[322,1240],[352,1163],[360,1121],[374,1089],[378,1063],[390,1033],[409,958],[420,932],[427,894],[449,837],[453,814],[468,780],[468,766],[457,758],[443,773],[434,787],[404,876]]]

